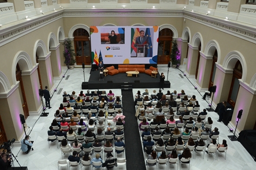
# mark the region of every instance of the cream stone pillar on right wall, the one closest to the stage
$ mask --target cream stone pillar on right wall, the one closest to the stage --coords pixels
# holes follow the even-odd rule
[[[192,46],[190,43],[188,43],[188,46],[188,63],[185,74],[189,77],[195,77],[199,49],[197,46]]]

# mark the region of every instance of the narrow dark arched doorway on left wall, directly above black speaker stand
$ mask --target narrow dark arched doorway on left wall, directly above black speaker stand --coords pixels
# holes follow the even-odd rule
[[[21,69],[20,69],[20,66],[18,65],[18,63],[16,66],[16,81],[20,82],[20,86],[18,86],[18,90],[20,91],[23,113],[24,113],[25,119],[27,119],[27,117],[29,116],[28,103],[27,103],[27,99],[25,96],[25,90],[24,90],[23,81],[22,81]]]

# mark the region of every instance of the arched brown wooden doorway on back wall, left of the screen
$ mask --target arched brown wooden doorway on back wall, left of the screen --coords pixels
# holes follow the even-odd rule
[[[82,28],[74,31],[75,60],[77,65],[91,65],[89,33]]]

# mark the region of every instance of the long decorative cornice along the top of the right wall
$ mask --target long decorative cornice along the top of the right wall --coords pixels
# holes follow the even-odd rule
[[[256,29],[253,27],[248,27],[245,24],[243,25],[242,23],[238,24],[232,21],[225,21],[224,19],[203,16],[201,14],[196,14],[195,12],[189,11],[184,11],[184,17],[197,23],[207,25],[207,27],[211,27],[249,42],[256,43]]]

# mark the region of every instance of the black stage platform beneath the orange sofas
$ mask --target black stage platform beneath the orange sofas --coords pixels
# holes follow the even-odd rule
[[[145,73],[139,73],[138,77],[127,77],[126,73],[104,76],[100,81],[99,71],[91,71],[89,81],[82,84],[82,89],[120,89],[122,85],[132,85],[132,88],[159,88],[159,73],[156,78]],[[165,81],[164,88],[170,88],[170,82]]]

